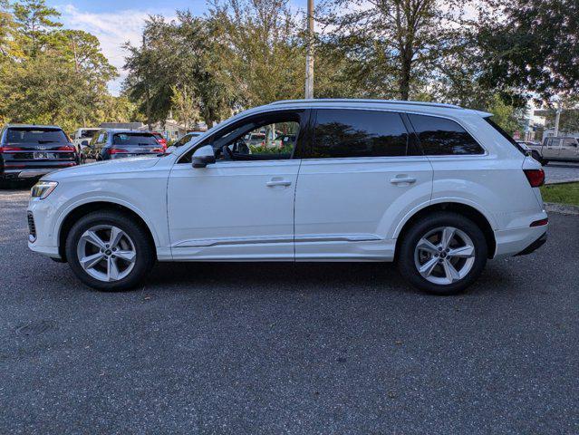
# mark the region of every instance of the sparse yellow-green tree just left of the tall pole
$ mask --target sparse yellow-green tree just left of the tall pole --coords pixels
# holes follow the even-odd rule
[[[243,107],[302,98],[304,41],[288,0],[215,0],[219,77]]]

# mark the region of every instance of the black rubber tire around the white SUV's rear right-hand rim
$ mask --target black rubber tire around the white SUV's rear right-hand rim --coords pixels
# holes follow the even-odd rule
[[[415,264],[415,249],[422,237],[429,231],[439,227],[455,227],[470,237],[474,245],[474,263],[467,275],[452,284],[435,284],[420,275]],[[464,216],[448,212],[438,211],[417,220],[405,231],[400,241],[400,251],[397,256],[400,274],[411,285],[432,295],[455,295],[471,285],[482,272],[487,264],[487,240],[482,230],[472,220]],[[437,255],[438,256],[438,255]]]

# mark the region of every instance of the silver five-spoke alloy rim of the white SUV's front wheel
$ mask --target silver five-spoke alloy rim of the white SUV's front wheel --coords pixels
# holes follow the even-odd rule
[[[137,260],[137,250],[129,235],[112,225],[98,225],[84,231],[76,253],[82,269],[104,282],[126,277]]]

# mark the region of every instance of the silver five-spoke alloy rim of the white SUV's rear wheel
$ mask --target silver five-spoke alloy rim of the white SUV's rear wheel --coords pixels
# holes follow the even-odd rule
[[[437,227],[420,238],[414,249],[414,264],[430,283],[450,285],[468,275],[475,256],[475,245],[464,231]]]

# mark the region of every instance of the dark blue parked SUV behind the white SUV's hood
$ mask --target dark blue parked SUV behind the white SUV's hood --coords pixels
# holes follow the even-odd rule
[[[82,160],[156,156],[165,149],[150,131],[102,129],[82,142]]]

